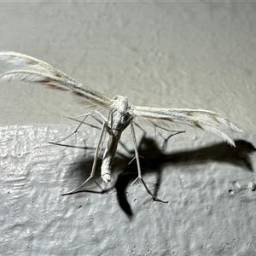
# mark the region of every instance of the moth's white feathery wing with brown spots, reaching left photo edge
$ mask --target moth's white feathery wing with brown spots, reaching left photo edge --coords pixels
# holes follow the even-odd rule
[[[42,83],[54,89],[69,90],[79,96],[80,103],[91,107],[109,108],[111,105],[111,100],[107,96],[32,56],[13,51],[2,51],[0,52],[0,61],[3,62],[5,70],[0,74],[0,81]]]

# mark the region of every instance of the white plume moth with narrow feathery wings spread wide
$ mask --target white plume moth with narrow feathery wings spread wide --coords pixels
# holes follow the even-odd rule
[[[128,102],[128,99],[125,96],[114,96],[113,99],[110,99],[100,92],[79,83],[77,80],[71,78],[66,73],[62,73],[48,63],[31,56],[12,51],[3,51],[0,52],[0,61],[3,61],[3,64],[6,67],[6,70],[4,71],[5,73],[0,74],[0,81],[8,82],[18,80],[30,83],[37,82],[57,89],[70,90],[77,96],[82,97],[84,103],[90,104],[90,106],[93,106],[95,109],[105,108],[109,110],[108,119],[103,117],[104,122],[96,146],[90,177],[88,177],[78,189],[68,192],[65,195],[77,192],[85,183],[95,176],[96,160],[100,154],[106,133],[108,133],[108,144],[103,154],[101,172],[102,180],[105,183],[110,182],[111,166],[113,164],[113,157],[119,139],[125,128],[130,125],[137,160],[137,178],[142,181],[145,189],[147,189],[149,195],[151,195],[155,201],[161,201],[150,192],[143,181],[133,120],[146,121],[146,123],[162,129],[171,128],[172,125],[175,124],[190,125],[211,132],[213,135],[223,138],[224,142],[236,147],[234,141],[228,135],[228,132],[241,130],[230,123],[230,121],[220,113],[201,109],[148,108],[134,106]],[[95,112],[98,113],[97,111]]]

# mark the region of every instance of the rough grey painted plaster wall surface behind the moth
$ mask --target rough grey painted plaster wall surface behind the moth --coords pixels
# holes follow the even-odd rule
[[[236,148],[202,131],[137,131],[150,201],[118,148],[108,192],[61,196],[93,151],[50,145],[87,109],[38,84],[0,84],[0,255],[256,255],[256,3],[0,3],[0,49],[53,64],[137,105],[206,108],[245,132]],[[77,144],[95,147],[84,126]],[[167,132],[162,132],[168,137]],[[131,135],[122,142],[132,150]],[[69,143],[75,143],[74,140]],[[100,168],[100,160],[98,170]],[[96,180],[103,187],[99,175]]]

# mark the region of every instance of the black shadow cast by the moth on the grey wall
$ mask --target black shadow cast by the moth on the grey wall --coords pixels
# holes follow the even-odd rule
[[[154,138],[143,137],[141,142],[138,144],[138,152],[141,156],[141,170],[143,174],[157,173],[154,190],[152,191],[155,196],[158,195],[162,178],[162,169],[166,165],[184,167],[186,165],[191,166],[204,162],[225,162],[234,166],[240,166],[248,172],[253,172],[253,164],[250,160],[250,154],[253,154],[253,152],[256,151],[256,148],[254,148],[252,143],[244,140],[236,140],[235,142],[236,148],[231,148],[226,143],[218,143],[202,148],[166,153],[166,150],[160,147],[159,143]],[[137,178],[137,161],[132,160],[134,151],[130,151],[128,153],[131,154],[131,156],[127,157],[123,154],[117,154],[115,157],[113,172],[118,172],[118,175],[116,182],[110,189],[116,189],[119,207],[129,218],[132,218],[133,212],[131,211],[131,205],[126,196],[126,189],[128,185]],[[83,160],[81,159],[81,161],[79,161],[79,165],[76,167],[75,175],[79,175],[79,178],[84,181],[90,175],[92,163],[92,157],[83,158]],[[101,172],[101,163],[101,160],[97,161],[97,174]],[[84,172],[84,170],[86,171]],[[137,181],[137,183],[138,182],[139,181]],[[95,191],[81,189],[79,193],[90,192],[102,194],[107,193],[108,190],[109,189],[100,189],[100,191]]]

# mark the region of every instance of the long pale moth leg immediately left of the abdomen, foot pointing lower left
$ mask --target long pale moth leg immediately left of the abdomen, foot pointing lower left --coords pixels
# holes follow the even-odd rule
[[[69,192],[67,192],[67,193],[65,193],[65,194],[61,194],[61,195],[71,195],[71,194],[73,194],[73,193],[76,193],[79,189],[81,189],[82,187],[84,187],[84,184],[85,184],[85,183],[88,183],[88,182],[90,181],[90,179],[95,176],[96,161],[97,161],[97,158],[98,158],[98,156],[99,156],[99,154],[100,154],[100,151],[101,151],[101,148],[102,148],[102,143],[103,143],[103,141],[104,141],[104,136],[105,136],[105,132],[106,132],[106,131],[108,131],[108,124],[104,121],[104,122],[103,122],[103,126],[102,126],[101,135],[100,135],[99,141],[98,141],[97,146],[96,146],[96,151],[95,151],[95,154],[94,154],[94,160],[93,160],[93,165],[92,165],[91,172],[90,172],[90,177],[88,177],[88,178],[84,181],[84,183],[83,183],[81,186],[79,186],[78,189],[74,189],[74,190],[72,190],[72,191],[69,191]]]

